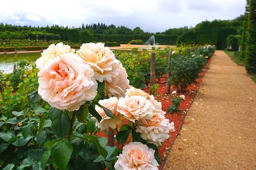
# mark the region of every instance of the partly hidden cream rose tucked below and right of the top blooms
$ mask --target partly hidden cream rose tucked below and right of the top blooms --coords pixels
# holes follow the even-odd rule
[[[125,91],[129,87],[127,73],[122,64],[119,64],[118,75],[112,78],[112,81],[106,81],[106,93],[108,96],[125,97]]]

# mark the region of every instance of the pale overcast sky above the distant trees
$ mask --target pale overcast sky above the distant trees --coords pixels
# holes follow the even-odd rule
[[[1,0],[0,22],[68,27],[102,22],[163,32],[202,20],[239,17],[245,4],[246,0]]]

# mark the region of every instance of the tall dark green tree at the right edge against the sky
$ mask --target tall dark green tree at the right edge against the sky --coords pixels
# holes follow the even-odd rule
[[[256,0],[249,1],[246,38],[246,70],[256,73]]]

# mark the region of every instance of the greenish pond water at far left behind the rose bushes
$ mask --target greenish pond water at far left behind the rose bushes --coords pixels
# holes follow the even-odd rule
[[[12,73],[13,65],[17,64],[20,60],[35,61],[40,56],[40,53],[19,53],[0,55],[0,70],[4,71],[4,73]]]

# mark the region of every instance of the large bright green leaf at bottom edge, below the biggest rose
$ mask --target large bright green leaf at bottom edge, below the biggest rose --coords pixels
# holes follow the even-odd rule
[[[68,139],[62,139],[54,143],[51,148],[51,161],[55,169],[67,169],[72,155],[73,146]]]

